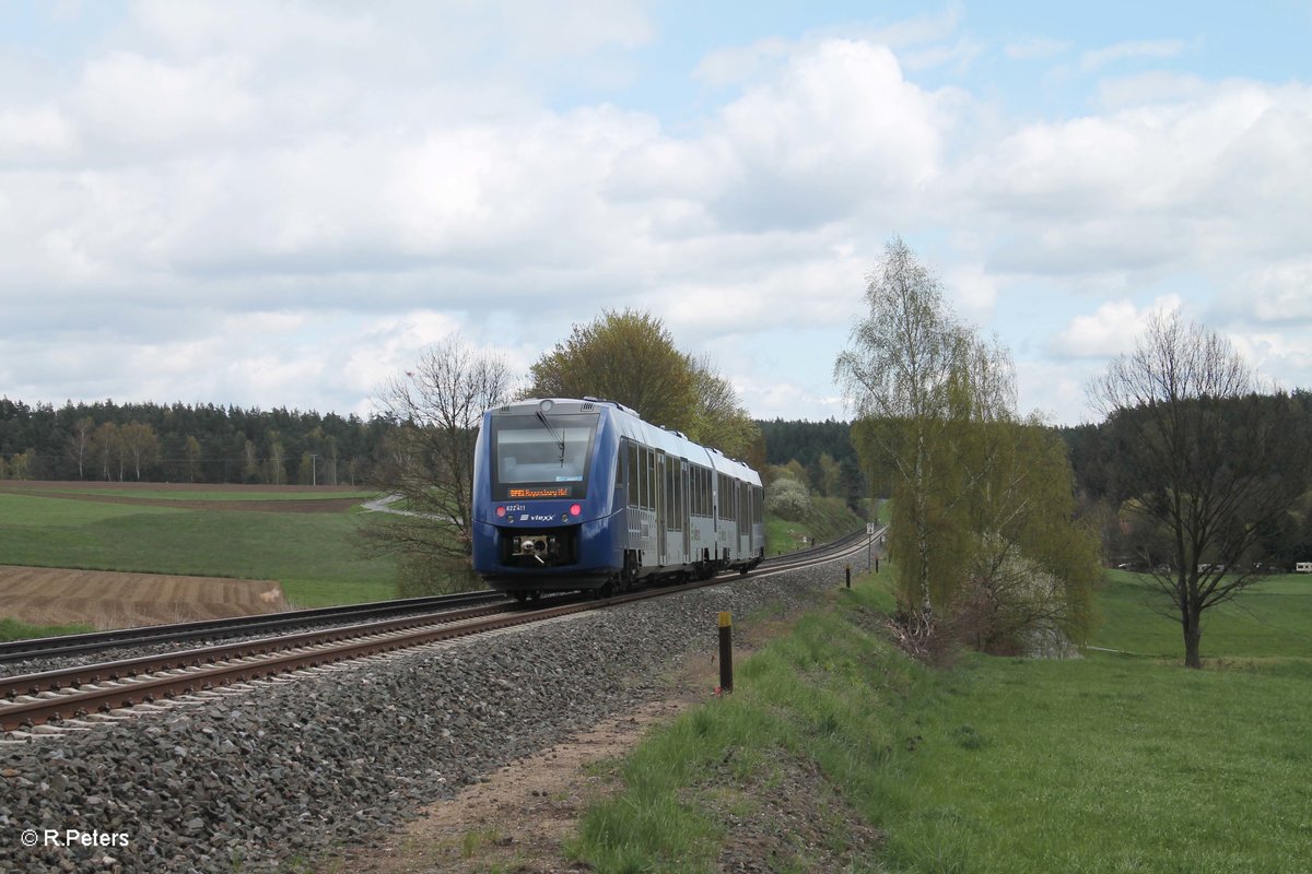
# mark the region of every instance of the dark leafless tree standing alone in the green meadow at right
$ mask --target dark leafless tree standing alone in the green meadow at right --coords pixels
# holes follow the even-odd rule
[[[1147,554],[1200,667],[1203,612],[1257,582],[1252,550],[1307,487],[1308,436],[1287,396],[1229,342],[1178,313],[1155,316],[1135,351],[1089,385],[1107,417],[1126,506],[1156,525]]]

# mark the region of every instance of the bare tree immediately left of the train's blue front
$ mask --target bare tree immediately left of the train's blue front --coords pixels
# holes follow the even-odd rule
[[[500,358],[453,337],[391,379],[377,404],[396,425],[377,468],[377,485],[405,512],[365,529],[375,549],[399,552],[403,566],[466,566],[472,544],[474,444],[483,411],[510,398]]]

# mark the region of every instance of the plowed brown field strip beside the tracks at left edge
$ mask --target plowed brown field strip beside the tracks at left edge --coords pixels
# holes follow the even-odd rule
[[[0,616],[34,625],[133,628],[287,609],[269,579],[0,565]]]

